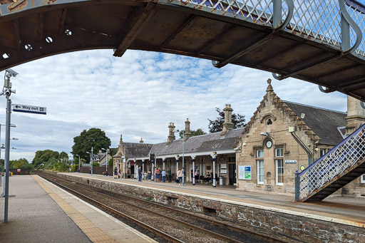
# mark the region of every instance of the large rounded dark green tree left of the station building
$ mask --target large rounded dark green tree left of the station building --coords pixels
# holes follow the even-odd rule
[[[86,152],[91,152],[91,148],[93,148],[94,153],[97,153],[101,148],[108,149],[111,145],[106,133],[99,128],[83,130],[79,136],[73,138],[73,143],[71,152],[73,157],[80,155],[86,161],[90,161],[91,155]]]

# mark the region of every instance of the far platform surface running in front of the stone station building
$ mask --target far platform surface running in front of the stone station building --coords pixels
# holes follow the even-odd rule
[[[272,210],[294,214],[302,217],[320,219],[340,224],[364,228],[365,232],[365,197],[341,197],[330,196],[322,202],[294,202],[294,197],[287,195],[274,195],[268,192],[242,192],[235,190],[233,186],[212,184],[185,183],[184,186],[175,182],[154,182],[136,179],[113,179],[103,175],[89,175],[83,173],[64,173],[73,176],[90,177],[96,180],[110,180],[115,183],[126,183],[138,187],[153,187],[158,190],[168,192],[187,193],[187,195],[196,195],[197,197],[213,197],[215,200],[222,200],[250,207],[262,208],[263,210]]]

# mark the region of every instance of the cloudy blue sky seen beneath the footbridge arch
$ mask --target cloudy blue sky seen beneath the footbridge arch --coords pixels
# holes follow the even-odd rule
[[[211,61],[149,51],[113,50],[64,53],[12,68],[14,104],[47,108],[46,115],[11,113],[10,160],[33,160],[37,150],[65,151],[71,156],[73,138],[100,128],[116,148],[123,141],[162,143],[168,125],[208,132],[215,108],[231,104],[248,122],[262,100],[267,79],[282,100],[346,112],[346,95],[322,93],[317,85],[242,66],[214,68]],[[4,76],[4,71],[0,73]],[[6,98],[0,96],[1,143],[5,138]],[[4,159],[4,150],[1,151]]]

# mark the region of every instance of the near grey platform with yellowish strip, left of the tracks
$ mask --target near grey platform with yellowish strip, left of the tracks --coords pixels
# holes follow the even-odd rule
[[[0,242],[155,242],[36,175],[14,175],[9,185],[7,224],[0,198]]]

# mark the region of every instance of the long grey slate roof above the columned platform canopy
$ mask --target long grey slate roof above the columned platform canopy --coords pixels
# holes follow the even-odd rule
[[[184,152],[213,152],[216,150],[233,150],[236,140],[240,137],[243,128],[233,129],[221,137],[220,133],[210,133],[207,135],[199,135],[190,137],[185,141]],[[168,145],[165,143],[158,143],[153,145],[151,153],[155,155],[173,155],[183,152],[183,139],[173,140]]]

